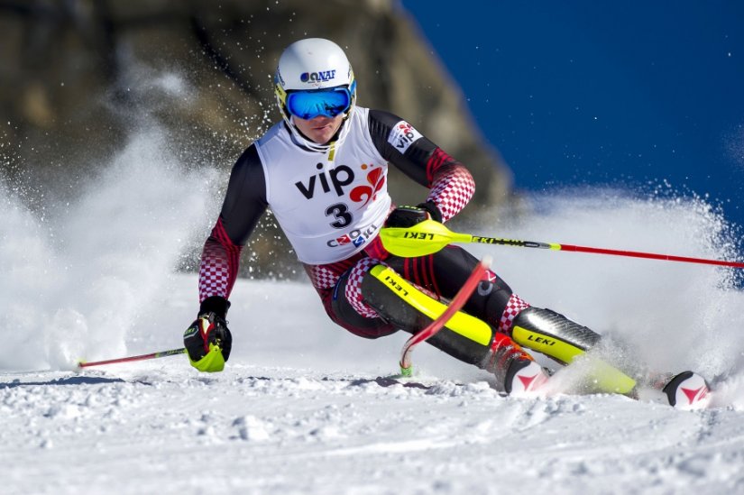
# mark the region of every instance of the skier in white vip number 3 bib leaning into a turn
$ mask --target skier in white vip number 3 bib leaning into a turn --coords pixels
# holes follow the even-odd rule
[[[365,338],[399,329],[416,333],[431,321],[399,298],[390,283],[374,276],[374,267],[409,280],[423,304],[435,304],[453,298],[477,263],[454,245],[413,258],[391,255],[382,245],[382,226],[446,222],[467,205],[475,185],[462,163],[407,121],[355,105],[356,80],[341,48],[317,38],[292,43],[280,56],[274,82],[282,121],[235,163],[222,211],[202,252],[200,308],[184,334],[189,361],[199,371],[222,371],[230,356],[228,298],[241,249],[267,207],[328,316]],[[389,165],[429,188],[418,206],[392,204]],[[515,328],[537,335],[537,342],[552,339],[580,352],[599,340],[565,316],[530,306],[491,270],[464,313],[485,322],[487,330],[475,335],[468,328],[445,327],[427,342],[491,371],[507,393],[534,390],[548,377],[511,338]]]

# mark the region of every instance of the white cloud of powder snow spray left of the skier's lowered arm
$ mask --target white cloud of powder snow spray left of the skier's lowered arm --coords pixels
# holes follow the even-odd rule
[[[39,208],[0,178],[0,369],[73,369],[125,353],[128,330],[147,325],[140,316],[214,214],[214,170],[188,172],[168,150],[157,127],[142,129],[75,198]]]

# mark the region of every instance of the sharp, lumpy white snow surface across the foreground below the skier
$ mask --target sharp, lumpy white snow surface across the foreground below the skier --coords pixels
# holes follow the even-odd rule
[[[178,362],[177,362],[178,361]],[[154,368],[154,369],[153,369]],[[511,399],[181,360],[4,376],[9,493],[731,492],[744,425],[623,397]]]

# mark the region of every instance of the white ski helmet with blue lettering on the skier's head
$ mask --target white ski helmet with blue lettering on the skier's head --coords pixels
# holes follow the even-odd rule
[[[340,98],[340,106],[335,106],[331,114],[323,110],[315,115],[335,116],[344,114],[344,123],[335,142],[328,144],[317,144],[311,142],[299,133],[297,127],[292,124],[290,111],[291,95],[293,92],[315,91],[318,94],[328,95],[328,91],[318,90],[333,89],[333,96]],[[277,105],[284,122],[289,126],[289,131],[295,139],[308,148],[316,151],[326,151],[332,144],[340,144],[349,132],[346,120],[351,115],[356,102],[356,81],[354,70],[346,59],[344,50],[341,50],[333,41],[322,38],[308,38],[307,40],[295,41],[290,44],[281,54],[274,77],[274,91],[277,97]],[[317,105],[317,109],[324,107]],[[327,108],[327,107],[325,107]],[[302,118],[312,118],[309,115]]]

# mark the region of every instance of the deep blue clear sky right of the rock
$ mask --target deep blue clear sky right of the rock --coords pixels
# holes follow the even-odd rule
[[[667,181],[744,226],[744,2],[402,4],[518,188]]]

